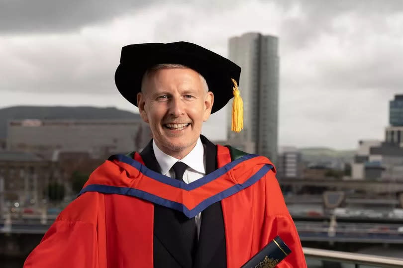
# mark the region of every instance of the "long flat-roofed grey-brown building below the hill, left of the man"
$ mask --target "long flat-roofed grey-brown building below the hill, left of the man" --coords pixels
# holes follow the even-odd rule
[[[151,139],[140,118],[135,120],[11,120],[7,151],[29,152],[52,159],[59,152],[88,152],[92,158],[139,151]]]

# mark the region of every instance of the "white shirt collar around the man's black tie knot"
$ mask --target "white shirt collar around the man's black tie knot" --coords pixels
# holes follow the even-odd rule
[[[205,174],[204,147],[203,144],[201,143],[200,138],[196,142],[196,145],[192,149],[192,151],[190,151],[190,153],[187,154],[181,160],[178,160],[175,157],[167,155],[166,153],[161,151],[160,148],[158,148],[158,146],[155,144],[154,140],[153,140],[153,149],[155,158],[157,159],[157,162],[160,165],[162,175],[167,175],[167,173],[171,170],[172,166],[178,161],[185,163],[191,169],[199,173]]]

